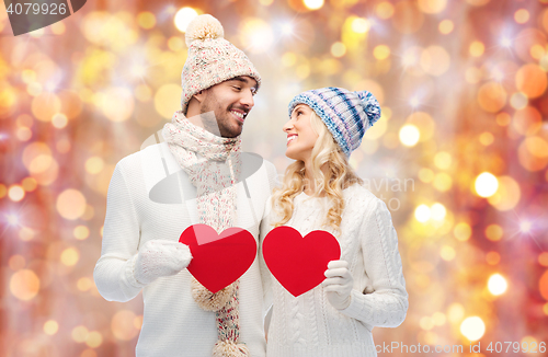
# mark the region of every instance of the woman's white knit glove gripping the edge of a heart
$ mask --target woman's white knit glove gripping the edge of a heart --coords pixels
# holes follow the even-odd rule
[[[329,302],[338,310],[344,310],[350,306],[352,286],[354,279],[345,261],[331,261],[326,270],[326,280],[321,284]]]

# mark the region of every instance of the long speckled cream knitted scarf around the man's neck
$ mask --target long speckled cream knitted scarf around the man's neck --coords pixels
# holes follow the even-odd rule
[[[241,172],[241,137],[218,137],[189,122],[181,111],[165,124],[162,135],[196,186],[199,223],[213,227],[217,233],[233,227],[236,182]],[[238,290],[239,279],[213,293],[193,277],[194,301],[206,311],[215,311],[218,341],[213,349],[214,357],[249,356],[247,346],[239,343]]]

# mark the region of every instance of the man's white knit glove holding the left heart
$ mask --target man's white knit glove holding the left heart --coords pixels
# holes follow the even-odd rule
[[[175,275],[191,263],[187,245],[180,242],[151,240],[137,254],[134,275],[139,284],[150,284],[161,276]]]

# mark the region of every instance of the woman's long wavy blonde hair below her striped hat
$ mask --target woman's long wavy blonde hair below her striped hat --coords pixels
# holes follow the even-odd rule
[[[310,125],[318,134],[318,139],[311,153],[311,177],[315,177],[318,196],[324,192],[333,206],[328,210],[323,224],[329,224],[340,233],[341,215],[344,209],[343,189],[355,184],[363,184],[346,160],[341,147],[333,139],[328,127],[312,111]],[[326,173],[321,168],[327,164]],[[284,183],[273,194],[272,205],[274,211],[282,217],[281,221],[273,223],[278,227],[285,224],[293,216],[293,198],[300,194],[306,185],[305,162],[297,160],[285,170]]]

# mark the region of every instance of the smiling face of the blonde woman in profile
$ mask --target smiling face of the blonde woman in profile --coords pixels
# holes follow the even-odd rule
[[[287,134],[287,158],[301,161],[310,159],[318,139],[318,134],[310,123],[311,115],[312,110],[308,105],[299,104],[293,110],[292,118],[284,125],[284,131]]]

